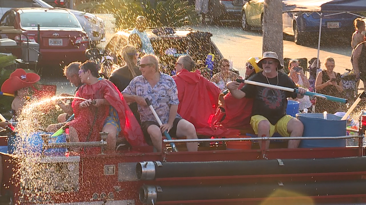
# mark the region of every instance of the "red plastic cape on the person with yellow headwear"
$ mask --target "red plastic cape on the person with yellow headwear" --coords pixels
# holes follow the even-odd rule
[[[242,88],[245,84],[239,85]],[[217,109],[215,116],[213,117],[213,124],[223,127],[248,127],[250,126],[250,117],[253,107],[253,99],[243,97],[236,99],[229,92],[224,96],[225,111]],[[224,120],[222,118],[225,116]]]

